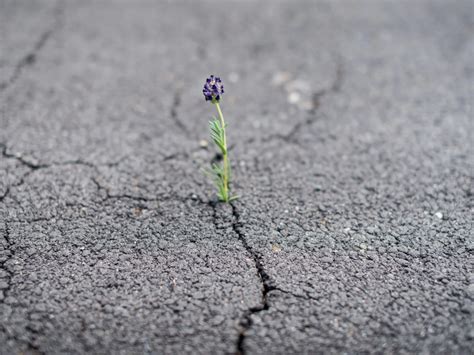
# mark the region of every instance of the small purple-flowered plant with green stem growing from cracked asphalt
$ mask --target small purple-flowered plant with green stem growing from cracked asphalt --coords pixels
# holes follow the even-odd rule
[[[230,164],[225,134],[226,123],[222,115],[221,107],[219,106],[221,96],[224,94],[224,85],[221,79],[211,75],[206,79],[202,93],[206,101],[211,101],[211,103],[216,106],[219,117],[214,117],[212,121],[209,122],[209,128],[211,130],[211,139],[222,154],[222,163],[213,163],[209,175],[217,187],[217,197],[219,200],[222,202],[230,202],[237,199],[237,196],[230,194]]]

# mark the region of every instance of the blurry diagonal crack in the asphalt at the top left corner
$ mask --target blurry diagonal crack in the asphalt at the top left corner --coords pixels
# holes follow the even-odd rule
[[[60,17],[62,15],[61,2],[57,2],[55,9],[53,10],[53,24],[50,28],[45,30],[40,34],[38,40],[33,45],[33,48],[30,49],[20,60],[16,63],[13,73],[8,79],[0,83],[0,94],[13,85],[21,76],[23,70],[29,66],[35,64],[38,54],[44,48],[51,36],[58,30],[61,26]]]

